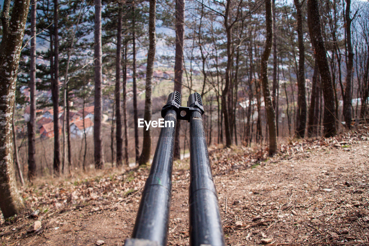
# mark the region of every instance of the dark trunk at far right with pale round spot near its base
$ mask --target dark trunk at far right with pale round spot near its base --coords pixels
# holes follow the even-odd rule
[[[351,78],[352,78],[352,66],[354,63],[354,51],[352,51],[352,43],[351,43],[351,22],[352,19],[350,17],[350,5],[351,0],[346,0],[346,12],[345,12],[345,20],[346,20],[346,45],[347,45],[347,52],[348,52],[348,60],[346,64],[346,88],[345,88],[345,95],[344,95],[344,119],[345,119],[345,126],[350,129],[351,128]]]

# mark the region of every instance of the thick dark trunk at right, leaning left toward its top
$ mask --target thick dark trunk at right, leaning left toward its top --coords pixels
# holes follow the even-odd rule
[[[328,66],[327,52],[325,50],[320,27],[318,0],[308,0],[307,10],[310,39],[314,47],[315,59],[317,59],[318,62],[324,96],[324,136],[330,137],[336,134],[334,92]]]

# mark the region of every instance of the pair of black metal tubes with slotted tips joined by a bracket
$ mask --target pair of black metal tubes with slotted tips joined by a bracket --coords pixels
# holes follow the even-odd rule
[[[132,238],[125,246],[166,246],[170,200],[172,195],[173,150],[177,120],[190,122],[190,245],[224,246],[224,235],[217,192],[211,174],[202,115],[204,107],[199,93],[189,96],[187,107],[181,107],[181,95],[169,94],[162,108],[165,121],[174,127],[163,127],[152,160],[149,177],[139,205]]]

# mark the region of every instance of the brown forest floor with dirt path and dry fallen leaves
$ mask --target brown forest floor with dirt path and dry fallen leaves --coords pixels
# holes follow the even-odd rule
[[[210,161],[227,245],[369,245],[368,128],[293,140],[272,158],[212,147]],[[0,219],[0,245],[123,245],[148,172],[39,180],[21,190],[29,210]],[[168,245],[189,245],[189,175],[188,158],[174,163]]]

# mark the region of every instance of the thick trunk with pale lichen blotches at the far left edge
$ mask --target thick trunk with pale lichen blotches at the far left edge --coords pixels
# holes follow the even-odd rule
[[[14,177],[11,119],[15,83],[30,0],[15,1],[9,21],[10,1],[4,1],[0,44],[0,209],[4,218],[24,209]]]

